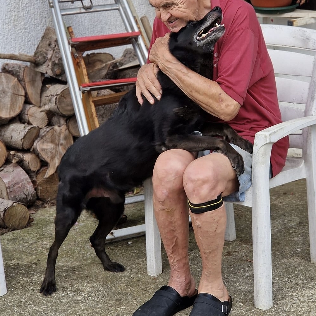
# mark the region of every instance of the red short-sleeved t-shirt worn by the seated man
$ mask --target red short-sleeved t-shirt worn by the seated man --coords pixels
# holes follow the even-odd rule
[[[226,29],[214,48],[213,80],[241,105],[236,117],[226,123],[253,143],[256,132],[281,122],[272,62],[258,18],[249,3],[212,0],[211,5],[222,8],[222,24]],[[161,20],[155,18],[151,44],[168,32]],[[221,122],[208,115],[210,122]],[[273,176],[282,170],[288,148],[288,137],[273,144],[270,158]]]

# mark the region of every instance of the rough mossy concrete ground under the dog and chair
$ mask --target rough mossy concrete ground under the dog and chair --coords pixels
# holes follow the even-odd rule
[[[129,204],[125,225],[143,222],[143,203]],[[145,237],[106,245],[125,272],[104,271],[88,237],[96,220],[83,212],[60,248],[56,265],[58,291],[39,293],[48,249],[53,241],[55,207],[38,210],[29,228],[1,236],[8,293],[0,297],[0,315],[131,316],[167,283],[169,266],[163,252],[163,273],[146,272]],[[266,311],[253,303],[251,209],[235,207],[237,240],[225,242],[223,278],[233,297],[232,316],[316,315],[316,265],[310,263],[305,181],[271,190],[274,305]],[[122,226],[120,226],[122,227]],[[193,231],[190,259],[198,281],[201,260]],[[177,316],[189,315],[191,308]],[[207,316],[207,315],[205,315]]]

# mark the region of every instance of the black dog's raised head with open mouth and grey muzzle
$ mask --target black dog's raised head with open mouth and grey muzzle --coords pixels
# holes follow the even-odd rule
[[[180,62],[199,72],[201,63],[205,63],[201,55],[212,53],[216,41],[225,32],[224,25],[221,25],[222,17],[222,9],[215,7],[202,20],[190,21],[179,32],[171,33],[170,52]]]

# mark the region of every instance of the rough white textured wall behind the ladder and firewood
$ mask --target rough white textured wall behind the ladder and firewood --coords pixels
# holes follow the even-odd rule
[[[89,3],[83,0],[84,3]],[[92,0],[97,4],[112,3],[112,0]],[[152,24],[155,12],[148,0],[132,0],[139,17],[147,15]],[[78,2],[80,3],[80,2]],[[0,0],[0,53],[24,53],[33,55],[47,26],[53,27],[48,0]],[[66,16],[76,36],[125,32],[118,11]],[[124,48],[108,50],[115,58]],[[8,60],[0,59],[0,67]],[[12,62],[12,60],[11,60]]]

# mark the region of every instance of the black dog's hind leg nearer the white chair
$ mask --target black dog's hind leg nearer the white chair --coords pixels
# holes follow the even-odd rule
[[[111,261],[104,247],[107,234],[110,233],[124,212],[124,201],[114,204],[109,197],[91,197],[87,209],[92,210],[99,220],[97,228],[90,237],[90,242],[96,255],[100,258],[104,270],[111,272],[124,271],[125,268],[122,264]]]

